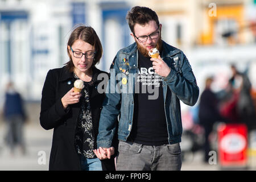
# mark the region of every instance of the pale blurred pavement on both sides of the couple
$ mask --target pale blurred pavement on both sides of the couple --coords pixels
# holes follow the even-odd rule
[[[0,123],[0,170],[1,171],[47,171],[51,151],[53,130],[44,130],[39,123],[29,123],[24,126],[27,154],[16,148],[14,155],[3,142],[6,126]],[[182,148],[181,148],[182,150]],[[250,156],[247,170],[256,169],[255,156]],[[238,168],[239,169],[239,168]],[[182,171],[219,171],[222,168],[217,163],[203,163],[203,152],[189,154],[183,161]]]

